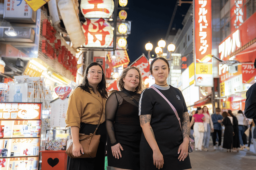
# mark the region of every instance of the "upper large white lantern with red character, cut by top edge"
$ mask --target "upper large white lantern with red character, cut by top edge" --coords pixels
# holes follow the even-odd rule
[[[85,18],[110,18],[115,6],[113,0],[81,0],[80,7]]]

